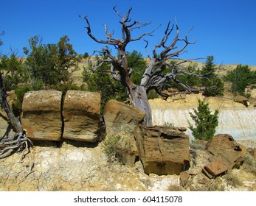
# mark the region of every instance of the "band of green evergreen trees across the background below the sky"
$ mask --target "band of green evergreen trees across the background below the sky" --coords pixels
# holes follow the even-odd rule
[[[111,65],[103,64],[95,72],[94,65],[89,61],[88,66],[83,66],[84,85],[77,86],[72,81],[72,72],[80,69],[78,64],[83,59],[89,60],[89,54],[77,54],[73,49],[69,38],[63,36],[58,43],[43,43],[40,36],[30,38],[29,47],[24,47],[26,57],[17,57],[15,52],[9,56],[1,54],[0,70],[4,73],[4,83],[7,90],[15,90],[17,95],[16,107],[21,110],[21,102],[24,93],[28,90],[55,89],[62,90],[90,90],[100,92],[102,105],[109,99],[119,101],[127,100],[125,88],[120,82],[115,81],[109,74]],[[0,40],[0,46],[2,41]],[[147,61],[138,51],[127,52],[128,66],[131,68],[131,79],[139,85],[142,74],[147,67]],[[94,57],[94,61],[104,58]],[[218,68],[214,63],[214,57],[208,56],[204,66],[198,69],[197,63],[190,63],[184,68],[186,73],[179,76],[179,81],[194,88],[204,88],[205,96],[223,96],[224,81],[231,82],[232,93],[245,95],[245,88],[256,83],[256,71],[251,71],[248,65],[238,65],[233,71],[228,71],[224,79],[217,75]],[[190,74],[198,74],[200,79]],[[170,87],[184,90],[174,82],[167,82],[162,90]],[[154,92],[149,93],[150,99],[158,97]]]

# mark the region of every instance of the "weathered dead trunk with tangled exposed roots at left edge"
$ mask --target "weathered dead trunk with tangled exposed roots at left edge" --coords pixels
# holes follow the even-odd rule
[[[32,144],[29,138],[27,138],[26,132],[21,127],[21,121],[15,117],[13,110],[10,107],[9,102],[7,101],[7,91],[4,86],[3,73],[0,71],[0,102],[1,107],[6,113],[7,117],[2,115],[8,124],[13,128],[13,135],[9,135],[9,132],[6,132],[3,137],[0,137],[0,159],[13,154],[13,152],[27,150],[29,152],[29,144]]]

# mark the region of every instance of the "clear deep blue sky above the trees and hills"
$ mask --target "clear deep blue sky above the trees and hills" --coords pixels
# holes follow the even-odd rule
[[[113,29],[115,37],[120,38],[120,18],[114,13],[114,6],[121,14],[133,7],[132,20],[152,21],[139,32],[150,32],[162,24],[153,37],[146,38],[150,54],[162,39],[167,22],[175,23],[176,18],[182,38],[194,26],[188,38],[196,40],[196,44],[187,47],[184,59],[213,55],[216,64],[256,65],[255,0],[1,0],[0,32],[5,32],[1,37],[4,42],[1,53],[10,53],[11,47],[24,56],[22,48],[28,46],[32,36],[40,35],[43,43],[58,43],[60,37],[68,35],[77,53],[92,54],[103,45],[88,37],[86,22],[78,15],[88,16],[97,38],[105,38],[103,24],[108,24],[108,29]],[[127,50],[145,54],[144,46],[143,41],[130,43]]]

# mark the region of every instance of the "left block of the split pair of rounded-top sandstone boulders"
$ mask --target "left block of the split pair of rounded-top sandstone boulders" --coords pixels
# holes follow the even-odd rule
[[[27,92],[22,103],[21,124],[32,140],[60,141],[62,92],[38,90]]]

